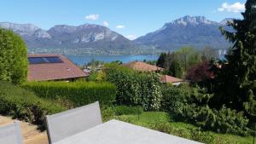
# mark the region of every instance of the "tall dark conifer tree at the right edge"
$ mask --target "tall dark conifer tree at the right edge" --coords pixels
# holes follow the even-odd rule
[[[233,43],[227,61],[218,63],[213,82],[212,105],[225,104],[245,111],[251,123],[256,121],[256,1],[247,0],[243,20],[229,21],[234,28],[229,32],[220,27],[224,36]]]

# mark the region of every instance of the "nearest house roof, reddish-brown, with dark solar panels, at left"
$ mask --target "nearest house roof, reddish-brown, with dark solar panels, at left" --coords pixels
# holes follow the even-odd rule
[[[62,55],[28,55],[27,81],[67,80],[88,76]]]

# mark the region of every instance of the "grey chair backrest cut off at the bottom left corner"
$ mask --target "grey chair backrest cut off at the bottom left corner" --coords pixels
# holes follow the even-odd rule
[[[19,122],[0,127],[1,144],[23,144],[22,141]]]

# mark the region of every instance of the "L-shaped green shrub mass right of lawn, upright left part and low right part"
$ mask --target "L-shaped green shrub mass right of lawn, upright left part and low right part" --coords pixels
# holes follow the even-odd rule
[[[248,135],[248,119],[243,112],[236,112],[224,106],[220,109],[208,107],[207,104],[212,96],[206,93],[206,89],[191,88],[183,101],[183,110],[179,113],[179,119],[192,122],[204,130]]]

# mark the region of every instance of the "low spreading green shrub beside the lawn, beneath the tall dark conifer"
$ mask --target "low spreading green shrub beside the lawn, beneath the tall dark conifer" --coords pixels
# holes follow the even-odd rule
[[[247,128],[248,119],[243,113],[226,107],[217,111],[207,106],[187,105],[181,115],[204,130],[236,135],[248,135],[250,132]]]

